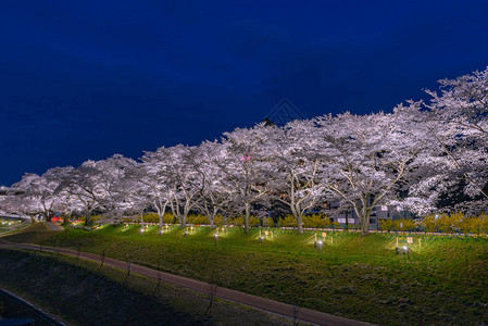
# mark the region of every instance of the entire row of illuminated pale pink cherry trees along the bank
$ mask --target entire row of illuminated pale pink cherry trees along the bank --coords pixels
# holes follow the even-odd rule
[[[95,213],[117,221],[151,209],[162,224],[171,210],[182,226],[191,211],[213,225],[215,216],[251,215],[284,204],[302,231],[306,210],[335,202],[353,210],[368,233],[375,206],[397,205],[417,214],[436,210],[453,192],[456,209],[484,209],[488,196],[488,70],[441,80],[429,103],[410,101],[392,113],[343,113],[259,124],[225,133],[200,146],[162,147],[139,161],[122,155],[26,174],[3,210],[70,215],[87,224]],[[470,198],[471,200],[466,200]],[[473,205],[475,203],[475,205]],[[331,212],[335,213],[335,212]],[[143,223],[143,221],[142,221]]]

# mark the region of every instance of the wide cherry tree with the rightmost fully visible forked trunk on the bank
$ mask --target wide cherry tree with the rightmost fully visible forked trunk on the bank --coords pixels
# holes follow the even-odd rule
[[[400,191],[409,190],[414,176],[425,175],[425,162],[431,147],[423,128],[415,121],[396,114],[318,117],[311,122],[320,126],[322,151],[320,184],[324,191],[341,204],[353,208],[360,218],[363,235],[368,234],[370,215],[375,206],[399,203]],[[415,197],[416,209],[429,204]],[[422,201],[421,201],[422,200]],[[405,204],[409,201],[403,201]]]

